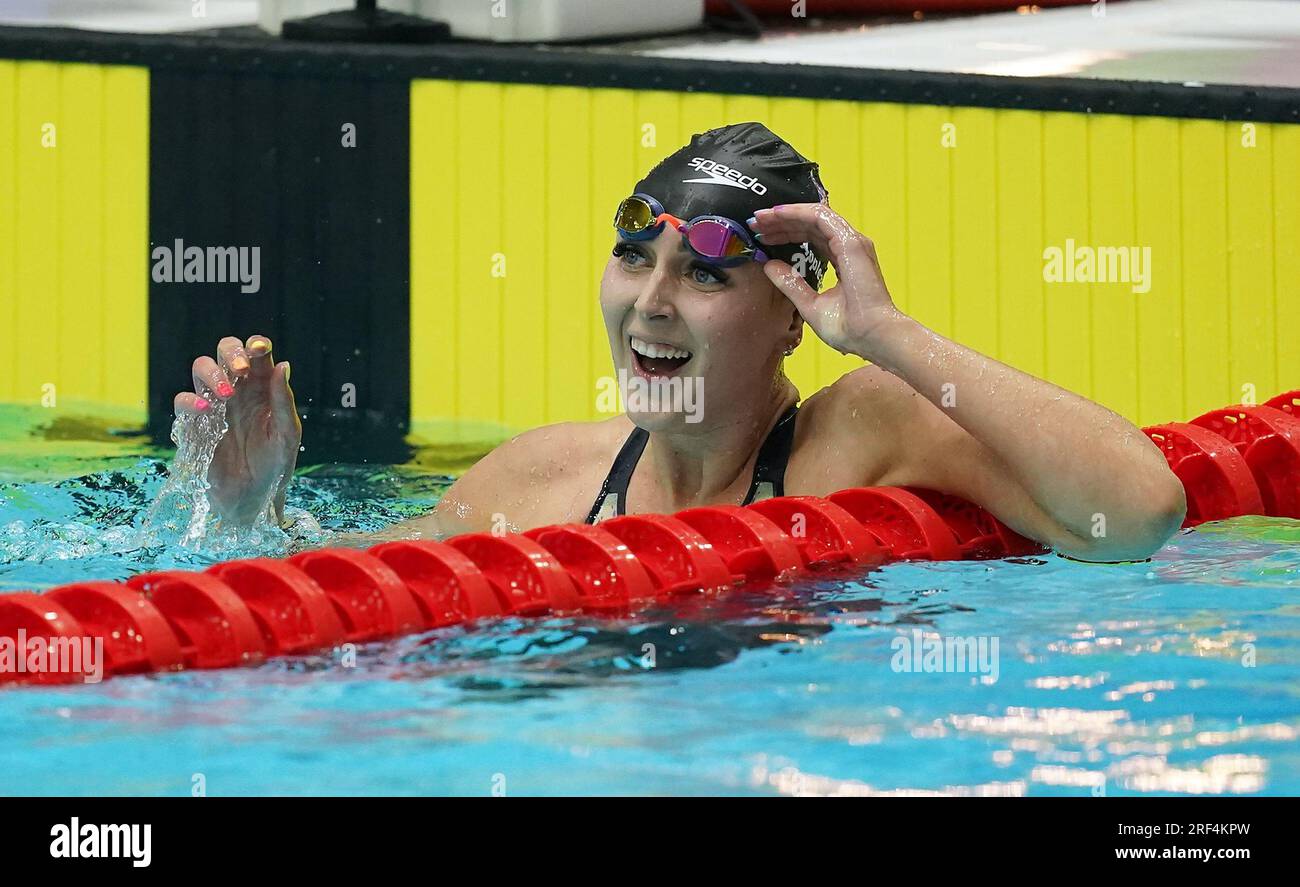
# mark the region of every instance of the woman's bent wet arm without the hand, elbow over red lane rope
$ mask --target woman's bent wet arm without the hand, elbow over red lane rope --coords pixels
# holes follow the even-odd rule
[[[1132,423],[906,315],[855,349],[918,394],[887,483],[937,486],[1086,561],[1149,557],[1179,528],[1183,485]]]

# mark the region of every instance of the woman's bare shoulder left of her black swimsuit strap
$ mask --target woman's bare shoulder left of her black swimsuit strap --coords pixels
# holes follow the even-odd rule
[[[439,535],[581,523],[632,430],[623,415],[530,428],[503,441],[443,494]]]

